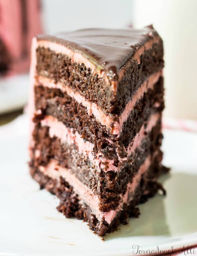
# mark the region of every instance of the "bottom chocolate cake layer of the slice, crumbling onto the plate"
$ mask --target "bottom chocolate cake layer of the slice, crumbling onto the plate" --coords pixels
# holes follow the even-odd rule
[[[140,185],[136,188],[133,198],[128,204],[124,204],[122,210],[116,215],[113,221],[108,224],[104,219],[99,221],[92,213],[90,207],[80,202],[80,198],[73,190],[73,187],[60,178],[60,183],[57,180],[53,180],[47,175],[44,175],[36,167],[32,167],[30,164],[30,170],[32,177],[40,184],[40,188],[46,188],[49,192],[56,194],[60,199],[60,204],[57,210],[62,212],[66,218],[78,218],[88,221],[90,228],[99,236],[103,236],[106,232],[112,232],[117,229],[120,223],[126,224],[129,217],[138,217],[140,211],[136,206],[139,203],[143,203],[148,197],[152,197],[158,190],[164,189],[161,184],[157,183],[155,179],[149,179],[148,176],[155,174],[155,169],[158,170],[158,161],[155,160],[149,167],[146,175],[142,176]],[[162,172],[162,169],[160,168]],[[151,173],[154,173],[153,175]]]

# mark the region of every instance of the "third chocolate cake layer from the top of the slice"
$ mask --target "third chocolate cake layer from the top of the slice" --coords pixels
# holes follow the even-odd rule
[[[157,125],[142,140],[140,147],[135,149],[124,164],[119,162],[117,155],[114,157],[117,166],[121,166],[120,172],[106,172],[103,169],[96,170],[90,159],[88,157],[85,159],[78,152],[75,144],[62,143],[55,136],[50,138],[49,128],[37,124],[33,132],[35,142],[32,158],[33,166],[47,166],[50,159],[55,159],[59,166],[71,169],[71,172],[85,186],[89,187],[94,194],[99,195],[102,200],[100,204],[102,211],[114,210],[119,204],[120,194],[125,194],[128,182],[132,182],[133,176],[138,172],[147,156],[158,151],[158,157],[161,161],[162,153],[159,152],[159,148],[162,134],[160,131],[161,122],[159,120]]]

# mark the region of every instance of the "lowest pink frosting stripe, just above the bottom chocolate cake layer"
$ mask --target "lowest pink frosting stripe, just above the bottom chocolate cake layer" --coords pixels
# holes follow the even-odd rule
[[[127,185],[127,191],[124,195],[121,195],[122,200],[118,208],[116,210],[111,210],[110,212],[101,212],[99,210],[100,200],[98,195],[95,195],[88,187],[80,182],[69,169],[58,166],[55,160],[51,160],[47,166],[39,166],[39,170],[52,179],[59,180],[59,177],[62,176],[73,187],[79,198],[90,206],[93,214],[95,214],[99,221],[104,218],[105,221],[110,224],[116,214],[122,209],[123,204],[129,203],[129,201],[132,200],[133,193],[141,180],[142,174],[148,169],[149,165],[150,156],[147,157],[142,166],[140,166],[138,173],[133,178],[133,182]]]

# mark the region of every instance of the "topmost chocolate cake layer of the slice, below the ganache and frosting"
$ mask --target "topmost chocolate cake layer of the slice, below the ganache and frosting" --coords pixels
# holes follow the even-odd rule
[[[126,103],[132,99],[139,86],[149,77],[163,68],[163,43],[160,40],[153,47],[144,51],[137,60],[129,60],[125,65],[123,75],[119,81],[117,93],[106,84],[105,78],[93,74],[84,64],[72,60],[49,48],[38,47],[37,74],[54,79],[55,83],[68,84],[74,91],[78,91],[86,100],[99,105],[105,113],[120,115]],[[127,87],[125,88],[125,84]]]

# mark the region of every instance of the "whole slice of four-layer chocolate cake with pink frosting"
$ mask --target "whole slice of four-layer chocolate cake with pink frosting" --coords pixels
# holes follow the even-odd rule
[[[163,190],[163,66],[152,26],[33,39],[31,175],[98,235]]]

